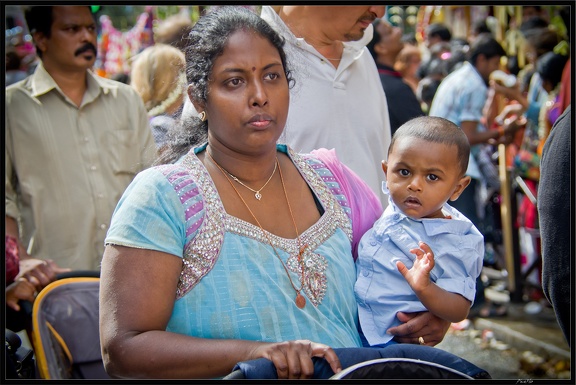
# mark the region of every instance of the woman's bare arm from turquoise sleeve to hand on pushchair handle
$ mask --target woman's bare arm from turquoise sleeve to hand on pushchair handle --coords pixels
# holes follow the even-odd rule
[[[264,343],[195,338],[167,332],[182,260],[163,252],[108,245],[100,280],[100,341],[115,378],[215,378],[240,361],[267,358],[279,378],[310,378],[311,357],[340,363],[328,346],[310,341]]]

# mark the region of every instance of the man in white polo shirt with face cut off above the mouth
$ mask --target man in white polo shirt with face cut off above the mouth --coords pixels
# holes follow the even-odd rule
[[[281,142],[297,152],[335,148],[344,164],[380,196],[380,164],[390,144],[388,105],[366,44],[384,6],[262,8],[262,18],[286,39],[296,81]]]

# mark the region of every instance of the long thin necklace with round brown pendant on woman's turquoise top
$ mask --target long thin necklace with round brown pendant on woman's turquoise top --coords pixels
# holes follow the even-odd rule
[[[278,260],[282,264],[282,267],[284,268],[284,271],[286,271],[286,275],[288,276],[288,279],[290,280],[290,285],[292,285],[292,288],[296,292],[296,298],[294,300],[294,302],[296,302],[296,306],[298,306],[300,309],[304,309],[304,307],[306,306],[306,298],[300,293],[302,291],[302,289],[304,288],[304,264],[302,262],[302,254],[304,254],[304,250],[306,249],[306,247],[308,247],[308,245],[304,245],[303,247],[300,246],[300,233],[298,232],[298,226],[296,226],[296,221],[294,220],[294,214],[292,213],[292,206],[290,206],[290,201],[288,200],[288,194],[286,193],[286,187],[284,185],[284,177],[282,176],[282,168],[278,166],[278,164],[279,164],[278,163],[278,157],[276,157],[276,165],[274,166],[274,171],[276,171],[276,168],[278,168],[278,172],[280,173],[280,181],[282,182],[282,189],[284,190],[284,197],[286,198],[286,203],[288,203],[288,210],[290,211],[290,217],[292,218],[292,223],[294,224],[294,229],[296,230],[296,240],[298,242],[298,264],[300,265],[300,274],[302,277],[300,289],[297,289],[296,285],[294,285],[294,281],[292,281],[292,277],[290,277],[290,272],[288,271],[288,267],[286,267],[286,264],[282,261],[282,258],[280,258],[278,251],[276,251],[276,248],[272,245],[272,240],[270,239],[270,236],[268,235],[266,230],[264,230],[264,228],[260,224],[260,221],[258,221],[258,219],[254,215],[254,213],[252,212],[252,210],[250,209],[250,207],[248,206],[248,204],[246,203],[244,198],[242,198],[242,195],[240,195],[240,192],[238,191],[238,189],[236,189],[236,186],[234,186],[234,183],[232,183],[232,180],[228,176],[228,174],[230,174],[230,173],[227,172],[226,170],[224,170],[224,168],[222,166],[220,166],[214,160],[212,155],[210,155],[210,153],[208,152],[208,149],[206,149],[206,155],[208,155],[208,157],[210,158],[212,163],[214,163],[214,165],[216,167],[218,167],[220,172],[222,172],[222,175],[224,175],[226,177],[226,180],[228,180],[228,182],[230,183],[230,186],[232,186],[232,188],[234,189],[234,191],[236,192],[236,194],[238,195],[238,197],[240,198],[242,203],[244,203],[244,206],[246,206],[246,208],[248,209],[248,212],[250,213],[250,215],[252,216],[254,221],[256,221],[256,223],[258,224],[258,227],[260,227],[260,230],[262,230],[262,233],[266,236],[268,243],[272,247],[272,250],[274,250],[274,254],[276,255],[276,258],[278,258]],[[272,174],[272,175],[274,175],[274,174]],[[230,174],[230,176],[232,176],[232,174]]]

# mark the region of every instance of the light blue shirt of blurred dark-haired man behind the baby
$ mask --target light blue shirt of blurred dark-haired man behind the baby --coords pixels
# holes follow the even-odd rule
[[[487,97],[486,82],[472,64],[465,62],[442,80],[434,95],[429,115],[448,119],[459,127],[464,121],[478,122],[477,130],[486,131],[486,127],[480,122]],[[478,180],[483,179],[472,152],[466,175]]]

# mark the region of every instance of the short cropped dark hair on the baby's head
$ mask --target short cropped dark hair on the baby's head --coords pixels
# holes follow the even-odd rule
[[[432,143],[456,145],[460,171],[462,175],[466,173],[470,157],[470,142],[464,131],[451,121],[437,116],[419,116],[407,121],[392,136],[388,155],[392,152],[396,141],[402,138],[419,138]]]

